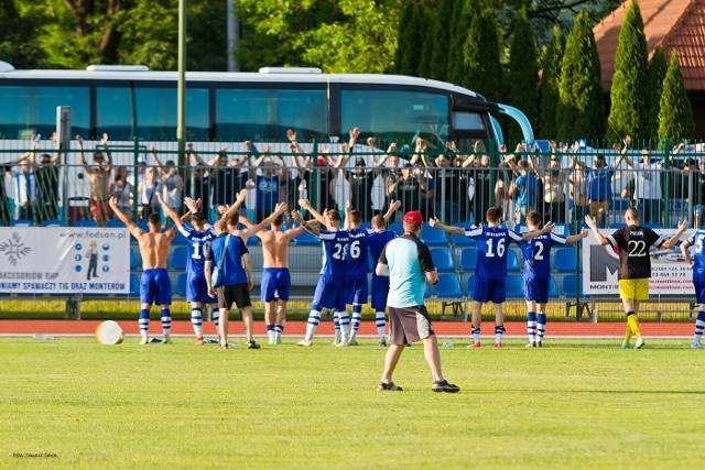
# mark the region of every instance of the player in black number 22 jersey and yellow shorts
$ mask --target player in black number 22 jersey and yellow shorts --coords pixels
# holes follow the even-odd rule
[[[634,349],[641,349],[644,340],[639,330],[639,303],[649,299],[649,277],[651,277],[651,256],[649,249],[671,248],[679,242],[679,238],[687,229],[687,220],[679,223],[679,230],[673,237],[664,240],[653,230],[639,225],[639,212],[629,208],[625,212],[627,227],[615,231],[605,238],[597,229],[595,219],[585,216],[585,223],[593,230],[599,244],[610,244],[619,249],[619,296],[627,314],[627,332],[622,349],[628,349],[631,336],[637,337]]]

